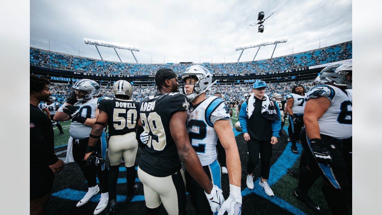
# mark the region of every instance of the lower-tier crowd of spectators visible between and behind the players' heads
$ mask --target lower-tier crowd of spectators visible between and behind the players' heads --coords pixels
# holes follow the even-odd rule
[[[313,86],[314,80],[303,80],[303,81],[286,81],[277,83],[267,83],[269,88],[265,92],[266,94],[272,96],[274,93],[280,93],[284,98],[287,94],[291,93],[291,89],[294,85],[303,85],[306,91],[309,91]],[[222,93],[222,98],[225,101],[240,101],[244,98],[245,93],[252,93],[252,84],[215,84],[210,88],[209,93],[206,94],[207,97],[212,96],[216,91]],[[69,95],[71,90],[71,85],[68,84],[57,84],[53,83],[50,86],[52,91],[52,96],[56,97],[60,103],[65,102],[66,97]],[[180,89],[181,92],[181,89]],[[133,85],[133,99],[136,101],[141,101],[147,96],[153,96],[157,93],[155,85]],[[107,96],[109,98],[114,98],[112,91],[112,85],[100,85],[100,95]]]

